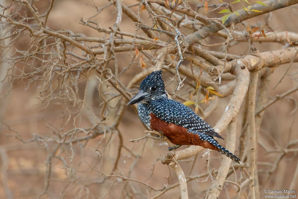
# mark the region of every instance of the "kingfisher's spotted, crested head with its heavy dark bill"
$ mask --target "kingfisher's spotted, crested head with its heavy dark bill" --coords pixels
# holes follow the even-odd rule
[[[140,85],[140,91],[127,103],[127,105],[138,102],[148,103],[151,100],[167,98],[162,80],[162,70],[151,72]]]

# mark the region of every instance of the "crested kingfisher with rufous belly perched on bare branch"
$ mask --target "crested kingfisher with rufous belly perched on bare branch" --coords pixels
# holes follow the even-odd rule
[[[138,115],[150,131],[160,132],[176,146],[196,145],[216,150],[240,163],[240,159],[214,139],[221,138],[215,130],[192,109],[179,101],[169,99],[162,79],[162,70],[153,71],[140,84],[139,92],[127,105],[138,103]]]

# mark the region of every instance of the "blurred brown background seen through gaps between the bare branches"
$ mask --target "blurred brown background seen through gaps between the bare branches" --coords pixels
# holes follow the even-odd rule
[[[124,0],[126,5],[131,5],[137,3],[134,0]],[[4,2],[5,3],[5,2]],[[94,4],[100,8],[109,1],[104,0],[94,0]],[[199,4],[200,2],[189,2],[193,6]],[[218,3],[218,1],[209,1],[209,3]],[[39,13],[44,13],[48,6],[49,1],[42,0],[39,1],[36,6],[38,7]],[[135,12],[138,6],[131,7]],[[48,27],[53,30],[71,30],[74,33],[83,33],[89,37],[103,37],[103,33],[98,33],[96,30],[88,28],[82,24],[79,24],[80,18],[86,20],[87,18],[96,14],[96,9],[94,8],[93,2],[83,1],[83,0],[60,0],[55,1],[53,9],[49,15]],[[270,26],[275,29],[275,31],[291,31],[298,32],[298,7],[284,8],[272,12],[272,18]],[[150,26],[151,22],[147,17],[147,13],[144,11],[141,13],[142,18]],[[211,15],[210,15],[211,16]],[[221,17],[220,14],[215,14],[214,16]],[[259,16],[248,20],[251,24],[264,24],[264,18],[266,15]],[[104,9],[98,16],[94,17],[92,20],[96,21],[100,26],[108,28],[113,26],[116,18],[116,9],[114,6],[109,6]],[[241,24],[238,27],[244,29]],[[133,22],[123,14],[122,22],[120,24],[120,30],[123,32],[133,33],[135,32]],[[185,30],[185,34],[191,33],[189,30]],[[140,35],[144,33],[139,30]],[[214,40],[214,41],[213,41]],[[29,44],[28,38],[19,38],[17,43],[17,48],[26,50]],[[206,43],[218,43],[222,42],[215,37],[209,37]],[[254,42],[253,45],[257,47],[260,52],[277,50],[283,47],[283,44],[275,43],[257,43]],[[206,48],[208,49],[208,48]],[[219,50],[217,47],[210,47],[210,50]],[[245,55],[247,54],[248,44],[246,42],[238,43],[230,47],[229,53],[235,55]],[[119,71],[127,66],[131,61],[131,57],[128,52],[118,53],[117,58],[119,61]],[[113,68],[113,61],[110,62],[109,67]],[[187,61],[184,62],[187,66]],[[21,66],[19,66],[21,67]],[[147,66],[150,67],[150,66]],[[297,85],[297,79],[295,76],[286,76],[282,83],[278,85],[275,90],[272,90],[273,86],[276,84],[278,79],[283,75],[287,65],[278,67],[272,76],[270,96],[273,98],[277,94],[281,94],[286,90]],[[298,70],[298,64],[294,63],[291,66],[288,75],[295,74]],[[28,69],[29,70],[29,69]],[[131,66],[131,68],[120,77],[120,80],[127,85],[128,81],[132,78],[134,74],[142,71],[139,66],[138,61]],[[3,71],[1,71],[3,72]],[[3,74],[1,74],[3,75]],[[170,74],[165,73],[163,78],[165,82],[168,82]],[[296,75],[297,76],[297,75]],[[101,101],[98,96],[98,81],[95,75],[89,74],[89,85],[86,101],[89,102],[89,107],[94,111],[94,113],[100,115],[99,104]],[[51,135],[53,134],[53,127],[60,128],[65,121],[61,121],[63,115],[66,113],[64,107],[58,101],[56,103],[40,104],[39,99],[39,84],[36,81],[30,82],[20,80],[13,82],[12,90],[6,98],[1,99],[1,117],[2,117],[2,129],[0,134],[0,161],[1,161],[1,181],[0,181],[0,198],[7,198],[12,196],[13,198],[37,198],[41,192],[44,190],[44,176],[46,175],[45,162],[47,159],[48,152],[44,145],[38,146],[36,142],[30,142],[28,144],[23,144],[21,141],[16,139],[14,136],[9,135],[14,134],[12,131],[8,130],[8,126],[13,130],[21,134],[24,140],[32,139],[35,134],[41,135]],[[86,86],[86,81],[82,79],[79,81],[80,95],[83,96],[84,88]],[[135,88],[137,88],[136,85]],[[174,88],[174,87],[173,87]],[[167,88],[173,91],[173,88]],[[5,93],[9,89],[9,84],[3,83],[2,92]],[[297,100],[297,93],[291,95],[292,98]],[[229,102],[229,98],[220,98],[220,102],[216,110],[205,120],[210,125],[214,125],[216,121],[220,118],[221,114],[224,112],[226,104]],[[116,103],[116,102],[115,102]],[[212,103],[212,102],[210,102]],[[203,108],[206,105],[202,105]],[[194,109],[194,107],[191,107]],[[113,122],[113,118],[117,113],[117,108],[108,108],[109,121]],[[291,100],[283,99],[273,104],[271,107],[266,109],[263,122],[261,124],[260,131],[260,142],[262,145],[266,146],[267,149],[276,149],[277,146],[284,148],[288,142],[292,139],[298,139],[297,129],[298,129],[298,119],[297,112],[289,114],[293,109],[295,109],[295,104]],[[242,110],[243,111],[243,110]],[[239,149],[239,136],[241,129],[241,119],[242,114],[238,116],[238,126],[237,126],[237,143],[235,154],[238,155]],[[88,110],[84,111],[79,121],[77,121],[77,127],[83,128],[88,127],[91,124],[90,113]],[[65,132],[69,129],[74,128],[72,122],[70,122],[64,129]],[[128,140],[142,137],[144,135],[145,127],[139,121],[139,118],[131,107],[125,112],[123,121],[120,124],[120,132],[123,136],[123,141],[129,149],[132,149],[134,153],[141,154],[142,158],[136,163],[134,171],[132,172],[131,178],[138,179],[152,185],[153,187],[162,187],[167,184],[167,179],[165,177],[170,175],[170,184],[176,183],[177,179],[173,171],[170,172],[170,168],[163,165],[159,161],[160,156],[167,152],[166,145],[160,145],[161,143],[147,139],[135,143],[130,143]],[[224,132],[223,137],[226,137],[226,132]],[[102,136],[99,136],[88,143],[88,147],[92,149],[97,148],[97,143],[100,141]],[[102,197],[108,192],[109,183],[93,183],[89,185],[91,181],[101,181],[102,177],[97,171],[90,169],[89,163],[94,168],[100,169],[102,172],[108,173],[110,167],[115,161],[115,154],[117,152],[117,146],[119,143],[119,138],[115,133],[107,133],[105,139],[101,142],[99,149],[101,150],[103,157],[101,158],[93,150],[84,147],[81,149],[78,145],[74,146],[75,157],[73,159],[74,165],[80,166],[74,167],[72,169],[76,170],[75,176],[67,176],[69,169],[63,168],[63,164],[58,159],[53,159],[52,163],[52,175],[49,182],[48,195],[43,196],[44,198],[87,198],[84,195],[89,194],[89,198]],[[223,146],[225,146],[224,141],[220,141]],[[46,143],[51,147],[50,143]],[[105,147],[105,146],[109,147]],[[186,146],[182,146],[184,149]],[[67,151],[68,149],[68,151]],[[259,166],[259,180],[260,180],[260,192],[263,195],[264,189],[289,189],[290,183],[292,181],[293,174],[297,166],[297,154],[288,153],[277,165],[277,169],[272,172],[268,182],[265,181],[265,177],[268,174],[266,170],[266,164],[273,164],[277,156],[277,153],[265,154],[262,147],[258,147],[258,164]],[[63,158],[69,161],[71,152],[69,148],[64,151],[65,154]],[[62,153],[57,151],[57,154]],[[201,156],[203,152],[199,154]],[[210,168],[218,169],[221,162],[221,155],[217,152],[211,152],[210,154],[211,162]],[[123,174],[129,172],[131,164],[134,162],[134,158],[131,157],[130,153],[122,149],[122,154],[120,157],[119,166]],[[185,175],[189,174],[191,164],[187,160],[181,162],[181,167],[184,170]],[[263,168],[263,169],[262,169]],[[191,175],[197,175],[199,173],[205,173],[206,166],[205,160],[197,158],[195,163],[195,168],[193,169]],[[235,176],[234,176],[235,177]],[[232,177],[232,178],[234,178]],[[239,176],[238,176],[239,177]],[[189,198],[203,198],[204,193],[207,191],[211,185],[210,179],[206,182],[201,182],[205,178],[194,180],[188,183]],[[72,181],[73,180],[73,181]],[[235,180],[235,179],[232,179]],[[76,183],[73,183],[76,181]],[[108,180],[110,181],[110,180]],[[296,182],[298,179],[296,180]],[[72,182],[72,183],[70,183]],[[66,186],[70,183],[69,186]],[[142,192],[144,195],[132,194],[133,198],[144,198],[152,197],[158,192],[150,191],[146,186],[133,183],[136,192]],[[224,189],[221,193],[221,198],[232,198],[235,196],[236,186],[225,183]],[[113,195],[119,194],[123,183],[119,183],[117,186],[111,188],[111,192],[104,196],[104,198],[113,198]],[[296,183],[296,191],[298,191],[298,186]],[[148,191],[146,191],[146,189]],[[64,195],[60,195],[63,193]],[[113,194],[114,193],[114,194]],[[146,194],[145,194],[146,193]],[[179,189],[176,187],[168,192],[166,192],[161,198],[179,198]],[[117,197],[115,197],[117,198]]]

